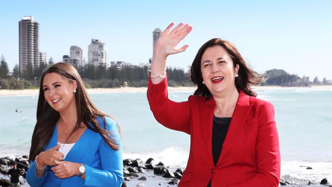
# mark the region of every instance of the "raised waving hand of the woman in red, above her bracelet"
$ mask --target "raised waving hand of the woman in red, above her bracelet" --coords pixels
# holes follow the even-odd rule
[[[192,31],[192,27],[188,24],[183,26],[183,23],[180,23],[173,30],[172,27],[174,23],[172,22],[165,31],[160,35],[158,41],[154,47],[154,54],[167,57],[171,54],[177,54],[184,52],[188,45],[185,44],[181,48],[177,44],[189,33]]]

